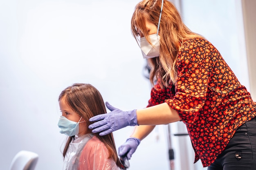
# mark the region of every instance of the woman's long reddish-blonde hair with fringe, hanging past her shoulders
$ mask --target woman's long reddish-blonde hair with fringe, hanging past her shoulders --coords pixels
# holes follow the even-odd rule
[[[144,34],[146,40],[148,31],[146,29],[146,20],[158,26],[159,15],[161,11],[162,0],[142,0],[135,7],[131,19],[132,35],[139,43],[137,28]],[[164,0],[162,16],[159,25],[160,36],[160,55],[148,59],[150,65],[150,82],[154,81],[160,86],[168,86],[171,82],[175,84],[177,70],[175,67],[178,51],[182,47],[185,39],[202,37],[193,33],[183,22],[180,13],[175,6],[168,0]]]

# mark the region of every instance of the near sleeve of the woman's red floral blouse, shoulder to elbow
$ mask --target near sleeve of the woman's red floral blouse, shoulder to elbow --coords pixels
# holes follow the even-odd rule
[[[209,67],[214,63],[213,45],[194,39],[178,53],[175,96],[165,102],[177,110],[185,123],[193,123],[207,97]]]

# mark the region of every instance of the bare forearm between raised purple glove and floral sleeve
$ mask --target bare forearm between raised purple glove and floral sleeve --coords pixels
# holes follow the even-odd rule
[[[181,120],[177,111],[171,108],[167,103],[138,109],[136,112],[139,125],[169,124]]]

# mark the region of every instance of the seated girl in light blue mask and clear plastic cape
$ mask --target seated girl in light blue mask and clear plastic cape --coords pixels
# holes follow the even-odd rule
[[[112,133],[99,136],[89,118],[106,113],[99,91],[90,84],[73,84],[59,96],[62,115],[58,126],[69,136],[63,150],[63,170],[119,170],[121,165]]]

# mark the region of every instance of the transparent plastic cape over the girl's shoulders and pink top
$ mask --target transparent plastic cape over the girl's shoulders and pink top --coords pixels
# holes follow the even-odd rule
[[[64,159],[63,170],[121,170],[113,159],[108,159],[108,149],[93,134],[75,136]]]

